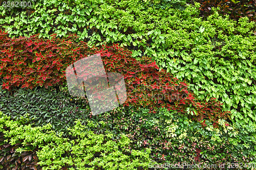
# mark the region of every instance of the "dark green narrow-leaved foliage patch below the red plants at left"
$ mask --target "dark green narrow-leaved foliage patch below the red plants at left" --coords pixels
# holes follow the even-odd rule
[[[67,128],[74,126],[76,119],[82,119],[84,125],[90,114],[86,110],[87,100],[78,103],[66,92],[49,88],[35,87],[32,90],[18,89],[16,91],[2,90],[1,111],[15,120],[28,117],[26,124],[44,126],[51,123],[53,129],[67,136]],[[80,98],[81,100],[81,98]]]

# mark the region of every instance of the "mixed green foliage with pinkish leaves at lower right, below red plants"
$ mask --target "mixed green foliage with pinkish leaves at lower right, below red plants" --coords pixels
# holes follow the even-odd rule
[[[239,123],[226,126],[225,121],[219,119],[219,129],[214,129],[207,120],[203,128],[200,123],[191,121],[191,117],[180,116],[175,111],[163,108],[155,114],[147,112],[144,108],[129,108],[125,117],[115,120],[114,125],[115,130],[123,129],[133,139],[132,149],[151,148],[155,164],[195,164],[199,160],[203,164],[240,161],[245,164],[256,160],[253,126]]]

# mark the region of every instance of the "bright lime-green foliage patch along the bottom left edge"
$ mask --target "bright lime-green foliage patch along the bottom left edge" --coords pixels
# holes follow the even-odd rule
[[[21,125],[10,120],[10,117],[1,113],[0,125],[8,127],[9,131],[3,128],[0,131],[7,138],[5,142],[12,145],[23,140],[23,146],[27,143],[38,146],[36,154],[42,169],[60,169],[67,166],[71,166],[70,169],[136,169],[138,166],[146,167],[151,163],[150,149],[125,149],[131,143],[125,135],[121,135],[120,140],[113,141],[113,134],[96,135],[92,131],[87,131],[88,127],[82,126],[79,120],[75,124],[69,129],[70,135],[75,139],[70,140],[57,136],[51,131],[50,124],[32,128],[30,125]],[[44,133],[42,130],[47,131]],[[16,153],[23,151],[23,148],[15,150]]]

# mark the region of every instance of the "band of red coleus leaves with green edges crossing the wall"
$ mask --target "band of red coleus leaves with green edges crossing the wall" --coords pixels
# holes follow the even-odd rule
[[[106,71],[124,76],[125,106],[150,106],[153,112],[156,107],[166,107],[186,113],[186,108],[193,105],[198,113],[195,119],[199,121],[209,118],[216,122],[218,117],[229,117],[227,113],[230,112],[221,111],[220,102],[213,99],[208,103],[197,101],[187,90],[187,83],[180,82],[165,70],[159,71],[151,58],[143,56],[139,62],[131,57],[131,51],[118,44],[90,49],[86,42],[74,43],[75,34],[65,39],[56,38],[56,35],[51,37],[50,40],[39,39],[37,34],[30,38],[11,39],[0,30],[0,76],[5,80],[2,89],[11,90],[11,87],[20,85],[30,89],[38,85],[48,88],[63,84],[70,64],[88,55],[100,54]]]

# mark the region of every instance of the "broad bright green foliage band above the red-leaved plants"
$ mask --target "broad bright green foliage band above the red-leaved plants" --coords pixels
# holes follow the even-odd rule
[[[197,2],[183,10],[146,4],[40,1],[32,11],[3,10],[0,25],[12,37],[73,32],[89,46],[118,42],[133,49],[133,57],[152,57],[160,69],[187,79],[199,99],[222,101],[234,121],[255,125],[255,22],[229,20],[214,7],[212,15],[200,18]]]

